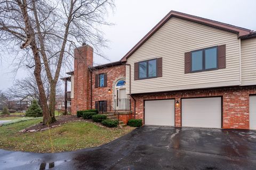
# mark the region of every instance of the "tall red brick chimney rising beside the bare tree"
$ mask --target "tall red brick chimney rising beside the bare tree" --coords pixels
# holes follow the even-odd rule
[[[89,45],[75,49],[74,52],[74,98],[71,99],[71,113],[90,109],[90,72],[93,66],[93,48]]]

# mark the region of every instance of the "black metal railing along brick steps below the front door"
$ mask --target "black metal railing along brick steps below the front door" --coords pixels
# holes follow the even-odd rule
[[[119,126],[119,112],[111,106],[110,101],[101,100],[95,102],[95,109],[99,111],[99,114],[107,115],[112,120],[118,120]]]

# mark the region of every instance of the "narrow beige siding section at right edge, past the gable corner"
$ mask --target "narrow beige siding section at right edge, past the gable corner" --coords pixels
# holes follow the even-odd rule
[[[256,38],[241,40],[242,85],[256,84]]]

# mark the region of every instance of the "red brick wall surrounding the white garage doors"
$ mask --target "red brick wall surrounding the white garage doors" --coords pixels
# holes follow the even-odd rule
[[[181,126],[181,98],[222,96],[223,99],[223,128],[249,129],[249,95],[256,94],[256,87],[219,88],[209,90],[191,90],[168,92],[164,94],[133,95],[136,99],[136,118],[143,120],[143,100],[171,99],[179,101],[175,106],[175,126]],[[132,104],[132,106],[134,103]]]

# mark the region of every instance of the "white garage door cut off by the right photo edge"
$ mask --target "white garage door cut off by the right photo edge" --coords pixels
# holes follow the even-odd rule
[[[256,96],[250,96],[249,102],[250,129],[256,129]]]

